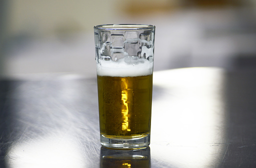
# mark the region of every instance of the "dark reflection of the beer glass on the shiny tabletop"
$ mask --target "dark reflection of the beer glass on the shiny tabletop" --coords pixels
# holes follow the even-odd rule
[[[100,167],[150,167],[150,148],[126,150],[100,148]]]

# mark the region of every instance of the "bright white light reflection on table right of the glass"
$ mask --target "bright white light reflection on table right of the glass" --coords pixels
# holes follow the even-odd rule
[[[218,128],[225,122],[223,73],[201,67],[155,72],[154,86],[162,92],[152,105],[152,158],[171,160],[174,167],[213,162],[216,150],[223,150],[219,140],[225,133]]]

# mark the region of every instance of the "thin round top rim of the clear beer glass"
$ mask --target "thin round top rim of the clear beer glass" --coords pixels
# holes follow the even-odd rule
[[[95,25],[94,29],[105,30],[139,30],[139,29],[154,29],[155,26],[151,24],[101,24]]]

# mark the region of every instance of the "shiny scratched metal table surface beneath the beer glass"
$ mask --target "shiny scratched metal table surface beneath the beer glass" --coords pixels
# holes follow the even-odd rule
[[[156,71],[150,147],[99,143],[96,78],[0,80],[0,167],[255,167],[256,72]]]

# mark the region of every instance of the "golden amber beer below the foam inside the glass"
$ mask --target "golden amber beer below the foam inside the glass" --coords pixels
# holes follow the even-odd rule
[[[97,75],[100,133],[136,136],[150,132],[152,74]]]

